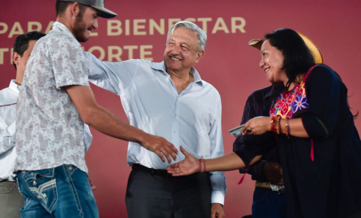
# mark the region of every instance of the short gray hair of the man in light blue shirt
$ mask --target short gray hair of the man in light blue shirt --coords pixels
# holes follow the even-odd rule
[[[197,35],[198,35],[197,52],[204,50],[205,43],[207,42],[207,33],[205,33],[201,28],[199,28],[196,24],[194,24],[190,21],[182,20],[182,21],[178,21],[176,24],[174,24],[172,26],[172,28],[168,31],[167,42],[169,40],[169,35],[171,34],[171,32],[173,33],[173,31],[175,31],[175,29],[177,29],[177,28],[184,28],[184,29],[191,30],[191,31],[194,31],[195,33],[197,33]]]

